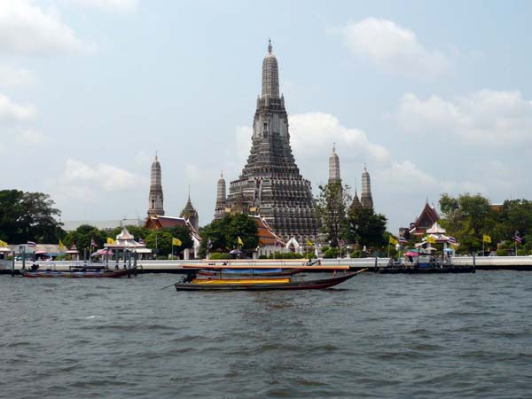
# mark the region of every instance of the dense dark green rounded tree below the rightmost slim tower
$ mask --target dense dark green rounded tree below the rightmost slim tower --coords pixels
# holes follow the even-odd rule
[[[387,218],[385,215],[376,214],[372,208],[350,208],[348,212],[348,239],[368,250],[381,248],[387,245],[386,232]]]

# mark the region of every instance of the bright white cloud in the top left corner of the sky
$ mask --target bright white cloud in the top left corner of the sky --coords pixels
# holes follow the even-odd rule
[[[0,51],[49,54],[84,50],[86,46],[55,10],[43,11],[27,0],[0,2]]]

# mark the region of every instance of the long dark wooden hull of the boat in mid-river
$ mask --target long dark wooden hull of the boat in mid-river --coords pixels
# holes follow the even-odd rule
[[[242,282],[239,284],[201,284],[201,283],[176,283],[177,291],[284,291],[284,290],[319,290],[336,286],[349,278],[354,278],[356,273],[348,273],[334,278],[324,278],[306,281],[290,281],[287,283],[256,284]]]

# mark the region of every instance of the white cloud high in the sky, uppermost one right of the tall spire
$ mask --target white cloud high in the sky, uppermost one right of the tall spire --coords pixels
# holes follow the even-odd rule
[[[336,29],[349,50],[388,71],[412,77],[438,76],[450,69],[441,51],[427,50],[411,30],[391,20],[366,18]]]

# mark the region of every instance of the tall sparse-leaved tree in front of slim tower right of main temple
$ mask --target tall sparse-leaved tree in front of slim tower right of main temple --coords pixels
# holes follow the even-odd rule
[[[320,222],[320,230],[327,234],[331,246],[338,246],[346,233],[346,210],[350,202],[348,185],[330,183],[319,186],[316,200],[316,214]]]

